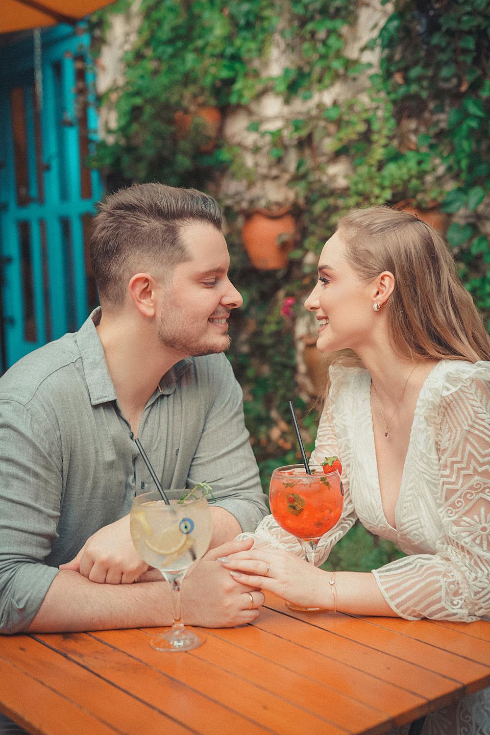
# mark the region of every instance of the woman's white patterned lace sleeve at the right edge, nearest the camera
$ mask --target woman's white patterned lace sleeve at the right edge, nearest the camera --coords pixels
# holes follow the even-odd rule
[[[436,553],[407,556],[373,574],[400,617],[469,622],[490,615],[490,370],[443,395],[436,447]]]

